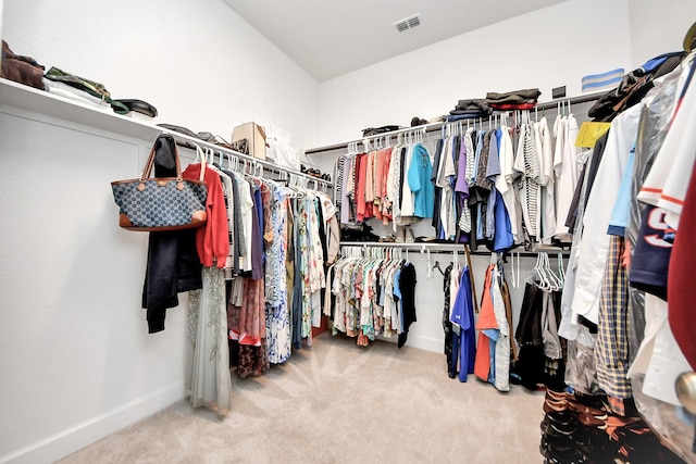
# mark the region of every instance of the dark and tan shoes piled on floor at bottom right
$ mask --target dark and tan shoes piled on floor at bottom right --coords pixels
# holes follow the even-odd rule
[[[604,396],[546,391],[539,451],[544,463],[679,463],[637,411],[611,413]]]

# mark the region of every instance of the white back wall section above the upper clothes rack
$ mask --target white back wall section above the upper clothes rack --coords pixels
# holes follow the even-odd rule
[[[629,0],[570,0],[444,40],[320,85],[319,146],[361,129],[409,126],[487,91],[554,87],[581,93],[581,78],[631,65]]]

